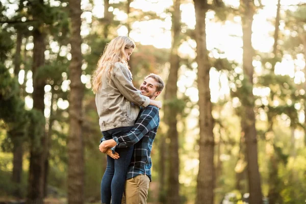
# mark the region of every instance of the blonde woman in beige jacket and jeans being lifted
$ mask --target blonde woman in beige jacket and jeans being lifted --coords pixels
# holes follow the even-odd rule
[[[100,130],[106,140],[129,132],[138,116],[140,107],[148,105],[161,108],[161,101],[141,95],[132,83],[127,65],[135,48],[129,37],[119,36],[105,48],[93,73],[92,84],[99,115]],[[101,202],[121,203],[127,167],[134,146],[116,149],[120,158],[107,156],[107,168],[101,181]]]

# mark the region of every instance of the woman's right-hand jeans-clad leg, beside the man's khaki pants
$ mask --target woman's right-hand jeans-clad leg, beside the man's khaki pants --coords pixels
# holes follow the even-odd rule
[[[127,168],[130,165],[134,146],[116,148],[120,158],[114,161],[115,172],[112,181],[112,204],[121,204],[122,194],[126,181]]]

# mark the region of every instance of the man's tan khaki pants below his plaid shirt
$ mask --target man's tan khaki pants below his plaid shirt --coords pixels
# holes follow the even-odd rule
[[[146,204],[150,179],[140,174],[125,182],[121,204]]]

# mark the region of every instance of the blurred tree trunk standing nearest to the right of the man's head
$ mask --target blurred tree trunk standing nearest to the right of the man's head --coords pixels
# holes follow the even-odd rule
[[[177,55],[177,49],[180,43],[181,33],[181,0],[173,2],[174,11],[172,13],[172,48],[170,53],[170,70],[165,90],[165,122],[168,126],[169,143],[169,171],[168,171],[168,193],[167,203],[180,203],[180,161],[179,161],[179,134],[177,133],[176,116],[178,110],[175,106],[177,103],[177,74],[180,68],[180,57]]]

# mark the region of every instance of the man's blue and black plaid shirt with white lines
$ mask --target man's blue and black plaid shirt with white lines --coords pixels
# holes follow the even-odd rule
[[[152,161],[150,155],[159,123],[159,109],[155,106],[147,106],[141,110],[133,129],[129,133],[113,138],[117,142],[116,147],[127,147],[135,144],[126,179],[145,174],[149,176],[151,181]]]

